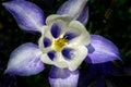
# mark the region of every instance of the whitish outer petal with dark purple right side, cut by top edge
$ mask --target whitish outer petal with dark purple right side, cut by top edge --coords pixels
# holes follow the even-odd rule
[[[88,18],[87,1],[88,0],[68,0],[59,8],[57,14],[70,15],[73,20],[78,20],[85,25]]]

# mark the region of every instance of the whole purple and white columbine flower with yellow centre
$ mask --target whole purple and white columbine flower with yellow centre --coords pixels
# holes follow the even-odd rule
[[[86,2],[68,0],[46,21],[44,12],[34,3],[25,0],[3,3],[23,30],[41,34],[38,46],[27,42],[11,53],[5,73],[28,76],[41,72],[45,64],[51,64],[51,87],[76,87],[78,67],[84,60],[90,63],[120,60],[112,42],[98,35],[91,36],[86,30]]]

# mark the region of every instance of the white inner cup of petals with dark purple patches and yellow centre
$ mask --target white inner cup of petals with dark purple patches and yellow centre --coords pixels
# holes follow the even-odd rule
[[[87,55],[90,34],[79,21],[67,15],[50,15],[41,29],[41,61],[74,71]]]

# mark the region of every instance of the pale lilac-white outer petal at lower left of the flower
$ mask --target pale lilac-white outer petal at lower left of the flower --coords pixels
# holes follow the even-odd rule
[[[11,53],[4,73],[28,76],[41,72],[45,67],[40,61],[40,54],[41,51],[34,44],[27,42],[20,46]]]

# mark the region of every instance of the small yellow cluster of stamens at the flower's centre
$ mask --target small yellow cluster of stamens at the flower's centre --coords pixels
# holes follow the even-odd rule
[[[61,51],[61,49],[68,44],[68,40],[66,38],[58,38],[53,41],[53,49],[56,51]]]

